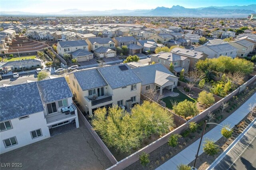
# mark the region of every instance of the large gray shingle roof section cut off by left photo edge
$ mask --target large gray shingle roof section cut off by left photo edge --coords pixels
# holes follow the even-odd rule
[[[41,111],[44,107],[37,82],[0,88],[1,122]]]

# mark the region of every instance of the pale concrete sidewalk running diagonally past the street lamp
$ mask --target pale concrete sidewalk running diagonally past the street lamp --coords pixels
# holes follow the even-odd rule
[[[250,103],[256,102],[256,93],[250,97],[242,106],[240,106],[232,115],[227,117],[220,125],[230,125],[230,128],[233,128],[234,125],[238,124],[244,117],[249,113],[248,105]],[[204,134],[203,140],[205,138],[210,138],[215,141],[219,140],[222,137],[220,133],[222,127],[216,126],[206,134]],[[190,146],[182,150],[180,153],[176,154],[170,160],[156,168],[156,170],[176,170],[176,167],[179,164],[189,164],[190,162],[195,160],[196,152],[198,150],[200,139],[196,140],[196,142],[192,143]],[[203,153],[202,145],[199,151],[199,155]]]

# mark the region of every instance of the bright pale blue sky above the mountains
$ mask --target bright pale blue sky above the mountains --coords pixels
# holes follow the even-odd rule
[[[132,1],[132,3],[130,2]],[[110,3],[109,3],[110,2]],[[137,5],[135,5],[137,4]],[[255,0],[0,0],[0,11],[58,12],[66,9],[112,10],[153,9],[158,6],[185,8],[208,6],[242,6],[256,4]]]

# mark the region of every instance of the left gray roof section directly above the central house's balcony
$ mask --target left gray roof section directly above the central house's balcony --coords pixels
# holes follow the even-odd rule
[[[108,85],[97,69],[76,71],[74,76],[83,91]]]

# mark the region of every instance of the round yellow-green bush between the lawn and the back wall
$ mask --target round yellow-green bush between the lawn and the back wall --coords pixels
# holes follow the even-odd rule
[[[184,118],[189,116],[195,116],[198,114],[198,109],[192,101],[185,99],[178,103],[178,105],[172,107],[174,113],[183,116]]]

